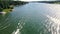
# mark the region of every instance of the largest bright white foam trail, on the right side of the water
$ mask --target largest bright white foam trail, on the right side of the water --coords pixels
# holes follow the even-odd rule
[[[46,15],[50,20],[52,20],[53,22],[54,22],[54,24],[53,25],[51,25],[51,31],[52,31],[52,34],[60,34],[59,33],[59,30],[60,30],[60,28],[59,28],[59,26],[60,26],[60,20],[59,19],[57,19],[57,18],[53,18],[53,17],[51,17],[51,16],[49,16],[49,15]],[[56,26],[55,26],[55,24],[57,24]],[[54,27],[54,28],[53,28]],[[56,28],[56,29],[55,29]],[[55,31],[54,31],[54,30]]]

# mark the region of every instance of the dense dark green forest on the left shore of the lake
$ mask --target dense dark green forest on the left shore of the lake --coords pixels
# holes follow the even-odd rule
[[[14,6],[23,5],[28,2],[22,1],[0,1],[0,12],[4,9],[13,9]]]

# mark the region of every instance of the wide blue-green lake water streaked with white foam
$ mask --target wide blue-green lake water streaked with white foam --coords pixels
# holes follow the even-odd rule
[[[60,5],[28,3],[0,15],[0,34],[60,34]]]

